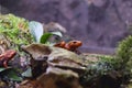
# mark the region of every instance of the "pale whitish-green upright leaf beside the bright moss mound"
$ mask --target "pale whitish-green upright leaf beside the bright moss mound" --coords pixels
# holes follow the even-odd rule
[[[43,24],[40,22],[31,21],[29,23],[30,32],[33,35],[35,42],[40,43],[40,38],[44,33]]]

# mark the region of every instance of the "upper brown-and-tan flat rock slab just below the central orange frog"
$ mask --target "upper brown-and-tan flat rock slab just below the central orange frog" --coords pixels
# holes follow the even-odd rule
[[[31,68],[33,78],[45,73],[48,66],[70,69],[78,74],[86,69],[81,56],[64,48],[44,44],[31,44],[22,48],[32,56]]]

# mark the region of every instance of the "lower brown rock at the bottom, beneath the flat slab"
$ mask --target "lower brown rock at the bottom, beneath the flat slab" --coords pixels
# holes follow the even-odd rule
[[[68,69],[48,67],[46,73],[36,80],[43,88],[81,88],[78,75]]]

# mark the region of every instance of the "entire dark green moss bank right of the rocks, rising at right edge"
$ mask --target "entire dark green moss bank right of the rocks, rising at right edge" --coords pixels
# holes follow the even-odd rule
[[[80,76],[80,81],[88,82],[112,72],[118,72],[122,77],[132,77],[132,35],[119,43],[114,56],[99,55],[99,62],[91,63]],[[114,74],[114,73],[113,73]],[[127,80],[125,80],[127,81]]]

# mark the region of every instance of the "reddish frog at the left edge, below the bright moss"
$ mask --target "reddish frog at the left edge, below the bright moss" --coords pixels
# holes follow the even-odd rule
[[[13,50],[8,50],[0,55],[0,66],[8,67],[8,62],[11,61],[16,54]]]

